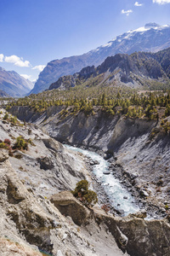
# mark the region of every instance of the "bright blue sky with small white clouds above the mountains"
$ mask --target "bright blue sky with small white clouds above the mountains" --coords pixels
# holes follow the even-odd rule
[[[49,61],[149,22],[170,25],[170,0],[0,0],[0,67],[35,81]]]

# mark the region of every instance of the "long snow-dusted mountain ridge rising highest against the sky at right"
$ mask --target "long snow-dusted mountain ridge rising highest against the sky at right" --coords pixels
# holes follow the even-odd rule
[[[97,67],[108,56],[117,53],[132,54],[135,51],[157,52],[167,47],[170,47],[170,26],[148,23],[144,27],[125,32],[86,54],[50,61],[39,74],[31,93],[48,89],[49,85],[58,80],[59,77],[77,73],[82,67],[92,65]]]

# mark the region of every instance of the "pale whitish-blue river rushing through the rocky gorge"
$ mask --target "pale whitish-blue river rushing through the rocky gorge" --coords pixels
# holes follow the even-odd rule
[[[98,165],[93,166],[93,172],[97,181],[101,183],[101,186],[104,188],[105,194],[109,197],[112,207],[116,208],[116,210],[120,212],[123,211],[124,216],[127,216],[129,213],[139,211],[139,207],[135,204],[133,196],[130,195],[127,189],[123,188],[119,180],[115,178],[112,173],[104,174],[104,172],[110,172],[110,163],[107,160],[92,151],[69,145],[65,146],[99,162]]]

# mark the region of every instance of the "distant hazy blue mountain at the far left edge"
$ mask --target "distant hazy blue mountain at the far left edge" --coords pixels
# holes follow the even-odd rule
[[[14,71],[6,71],[0,67],[0,90],[9,96],[24,96],[30,92],[33,84]]]

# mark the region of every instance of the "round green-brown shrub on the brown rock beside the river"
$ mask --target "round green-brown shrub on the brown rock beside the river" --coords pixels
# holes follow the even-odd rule
[[[76,189],[71,192],[85,206],[92,207],[98,202],[97,194],[93,190],[88,189],[88,181],[85,179],[78,182]]]

